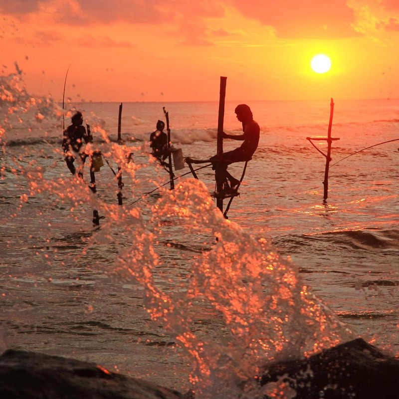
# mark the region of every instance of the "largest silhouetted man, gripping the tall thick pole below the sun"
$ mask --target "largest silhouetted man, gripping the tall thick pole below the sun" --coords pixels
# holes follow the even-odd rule
[[[239,184],[239,180],[227,172],[227,166],[234,162],[249,161],[259,143],[260,128],[253,120],[252,112],[248,105],[237,105],[234,112],[237,119],[242,123],[243,134],[231,135],[223,132],[223,138],[241,140],[241,146],[235,150],[227,151],[220,156],[215,155],[209,160],[212,163],[212,169],[215,170],[216,180],[223,183],[223,192],[225,193],[233,192]],[[227,180],[230,182],[230,186]]]

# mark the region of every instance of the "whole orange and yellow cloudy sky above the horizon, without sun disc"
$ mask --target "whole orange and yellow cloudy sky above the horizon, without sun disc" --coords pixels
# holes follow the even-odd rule
[[[0,0],[2,74],[73,101],[399,98],[399,0]],[[327,54],[332,68],[310,61]]]

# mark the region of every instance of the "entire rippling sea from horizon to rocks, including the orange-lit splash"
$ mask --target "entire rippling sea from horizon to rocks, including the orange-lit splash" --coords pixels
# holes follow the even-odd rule
[[[174,146],[214,155],[217,101],[123,103],[118,144],[119,103],[63,111],[11,75],[0,94],[1,350],[89,360],[198,398],[251,399],[292,397],[258,389],[268,362],[358,336],[398,356],[399,100],[334,99],[327,201],[325,158],[306,137],[327,135],[330,99],[239,101],[261,138],[226,220],[209,195],[210,168],[200,181],[177,171],[170,191],[147,143],[165,106]],[[239,102],[227,84],[232,134]],[[82,181],[63,161],[75,109],[94,135],[87,151],[104,157],[95,195],[87,166]]]

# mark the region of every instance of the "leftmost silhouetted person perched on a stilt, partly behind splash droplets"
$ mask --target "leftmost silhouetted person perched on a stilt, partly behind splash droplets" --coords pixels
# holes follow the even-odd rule
[[[72,116],[71,121],[72,125],[69,125],[64,130],[62,149],[64,150],[66,165],[68,166],[68,169],[71,171],[72,175],[76,173],[76,168],[73,164],[75,159],[80,160],[81,164],[79,166],[78,175],[82,177],[83,164],[88,157],[84,151],[81,151],[83,140],[87,144],[93,140],[93,136],[90,134],[89,125],[87,125],[86,132],[86,129],[83,126],[83,115],[81,112],[76,112]]]

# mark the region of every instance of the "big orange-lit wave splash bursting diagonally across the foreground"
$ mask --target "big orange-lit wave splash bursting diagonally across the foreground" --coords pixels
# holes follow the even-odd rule
[[[146,197],[140,207],[119,206],[110,202],[117,192],[115,179],[103,182],[99,196],[87,180],[64,175],[57,142],[47,141],[45,150],[38,152],[21,145],[19,153],[8,154],[15,131],[23,140],[59,135],[63,113],[72,111],[61,110],[51,98],[30,96],[17,74],[1,77],[0,88],[1,180],[19,196],[19,206],[10,216],[16,218],[28,203],[36,203],[40,231],[47,234],[51,225],[41,221],[46,210],[63,209],[79,222],[83,208],[97,209],[105,219],[84,239],[80,256],[94,246],[114,244],[113,263],[98,261],[97,267],[142,287],[149,316],[191,363],[189,379],[197,398],[254,399],[266,391],[278,397],[274,386],[258,387],[260,366],[309,356],[352,337],[311,293],[290,259],[282,258],[267,238],[254,237],[224,219],[199,181],[182,180],[173,192],[160,189],[158,198]],[[91,155],[100,149],[122,169],[125,187],[130,187],[125,196],[137,197],[152,184],[141,172],[149,167],[155,175],[159,171],[146,155],[146,144],[112,142],[101,119],[92,118],[92,131],[102,140],[85,151]],[[132,152],[142,163],[129,162]],[[161,179],[158,175],[153,182],[160,186]],[[51,209],[43,210],[43,197],[51,199]],[[179,243],[200,251],[176,256],[171,251],[176,242],[175,252],[181,249]],[[281,389],[283,396],[293,397],[288,387],[277,391]]]

